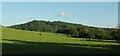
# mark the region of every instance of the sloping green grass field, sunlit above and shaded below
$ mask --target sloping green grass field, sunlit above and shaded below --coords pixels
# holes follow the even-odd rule
[[[115,40],[86,41],[65,34],[2,28],[3,54],[118,54]]]

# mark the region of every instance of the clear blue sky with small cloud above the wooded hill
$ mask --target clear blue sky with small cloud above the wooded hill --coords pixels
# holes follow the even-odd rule
[[[117,10],[117,2],[3,2],[2,25],[57,20],[115,28],[118,24]]]

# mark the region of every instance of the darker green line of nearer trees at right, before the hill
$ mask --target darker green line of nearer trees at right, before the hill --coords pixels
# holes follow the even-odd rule
[[[111,31],[105,31],[101,28],[88,28],[88,27],[78,27],[78,28],[64,28],[64,29],[58,29],[57,33],[64,33],[64,34],[70,34],[72,37],[77,38],[89,38],[89,40],[92,39],[99,39],[103,40],[118,40],[120,41],[120,37],[118,36],[118,32],[120,32],[119,29],[112,29]]]

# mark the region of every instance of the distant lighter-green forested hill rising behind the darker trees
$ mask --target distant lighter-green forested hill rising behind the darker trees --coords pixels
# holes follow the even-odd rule
[[[20,29],[20,30],[28,30],[28,31],[39,31],[39,32],[57,32],[58,29],[64,29],[64,28],[73,28],[73,27],[88,27],[92,29],[97,29],[97,27],[92,26],[85,26],[82,24],[74,24],[74,23],[68,23],[68,22],[61,22],[61,21],[41,21],[41,20],[33,20],[28,23],[19,24],[19,25],[12,25],[8,26],[10,28],[14,29]],[[107,31],[110,31],[111,29],[103,28]]]

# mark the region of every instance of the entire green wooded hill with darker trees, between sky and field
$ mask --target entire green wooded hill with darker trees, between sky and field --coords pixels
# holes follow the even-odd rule
[[[28,23],[8,27],[28,31],[64,33],[77,38],[118,39],[117,29],[98,28],[61,21],[33,20]]]

